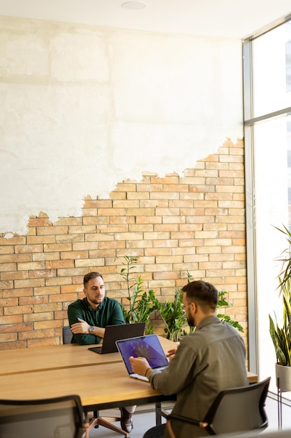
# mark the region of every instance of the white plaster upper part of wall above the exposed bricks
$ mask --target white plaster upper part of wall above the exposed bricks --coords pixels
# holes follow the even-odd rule
[[[243,136],[241,41],[0,17],[0,232]]]

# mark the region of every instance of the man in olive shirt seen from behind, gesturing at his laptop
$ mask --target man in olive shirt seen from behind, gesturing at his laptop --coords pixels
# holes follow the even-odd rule
[[[239,332],[214,314],[218,292],[214,285],[192,281],[184,286],[183,304],[195,332],[183,337],[168,352],[169,366],[151,369],[145,358],[130,358],[133,372],[147,376],[151,387],[165,395],[176,394],[173,414],[203,420],[222,390],[248,385],[246,348]],[[177,438],[208,435],[193,425],[171,421]],[[149,429],[144,438],[167,437],[165,424]]]

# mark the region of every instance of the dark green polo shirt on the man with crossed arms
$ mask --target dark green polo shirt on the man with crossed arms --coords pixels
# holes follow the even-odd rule
[[[89,325],[95,327],[103,327],[106,325],[125,324],[124,314],[122,313],[121,305],[116,299],[107,298],[98,306],[98,310],[91,308],[87,297],[77,299],[68,306],[68,322],[70,325],[79,323],[77,318],[81,318]],[[90,345],[99,344],[100,337],[94,334],[73,334],[72,344]]]

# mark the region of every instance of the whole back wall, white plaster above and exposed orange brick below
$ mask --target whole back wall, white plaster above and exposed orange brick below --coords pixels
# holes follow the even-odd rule
[[[124,255],[246,340],[241,41],[0,17],[0,78],[0,349],[61,343],[88,271],[126,304]]]

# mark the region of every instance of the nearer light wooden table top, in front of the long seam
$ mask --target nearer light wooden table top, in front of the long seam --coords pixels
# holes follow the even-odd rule
[[[124,362],[0,376],[0,399],[33,400],[69,394],[80,395],[83,407],[88,409],[161,399],[161,393],[149,383],[131,379]]]

